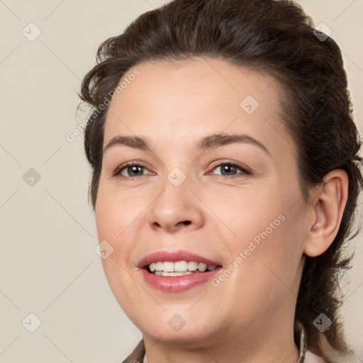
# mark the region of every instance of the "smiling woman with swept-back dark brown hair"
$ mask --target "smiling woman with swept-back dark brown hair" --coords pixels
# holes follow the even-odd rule
[[[291,1],[174,0],[101,44],[81,98],[124,362],[343,362],[359,171],[340,49]]]

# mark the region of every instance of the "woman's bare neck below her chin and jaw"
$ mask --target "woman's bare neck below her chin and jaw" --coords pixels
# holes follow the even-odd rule
[[[148,363],[296,363],[294,318],[286,310],[262,323],[240,331],[224,329],[218,336],[199,340],[188,334],[182,342],[165,342],[144,335]],[[292,312],[293,313],[293,312]],[[294,316],[294,315],[292,315]],[[269,327],[269,328],[268,328]]]

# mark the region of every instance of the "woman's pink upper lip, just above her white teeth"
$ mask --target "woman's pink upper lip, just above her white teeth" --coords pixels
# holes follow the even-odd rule
[[[202,257],[200,255],[196,255],[193,252],[177,250],[177,251],[158,251],[150,253],[150,255],[147,255],[142,259],[140,259],[138,267],[143,269],[152,262],[164,262],[164,261],[169,261],[169,262],[196,261],[196,262],[202,262],[207,266],[213,266],[215,264],[220,265],[219,262],[211,261],[211,259]]]

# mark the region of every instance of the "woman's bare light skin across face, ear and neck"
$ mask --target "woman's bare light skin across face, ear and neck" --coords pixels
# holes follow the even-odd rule
[[[150,150],[108,148],[95,216],[99,241],[114,249],[102,260],[108,283],[143,333],[148,361],[296,363],[294,309],[305,255],[320,255],[333,242],[347,175],[333,170],[303,201],[295,143],[281,122],[282,94],[268,74],[210,58],[136,68],[140,76],[111,101],[104,146],[116,135],[138,135]],[[251,114],[240,107],[247,95],[259,102]],[[249,135],[268,153],[252,143],[197,149],[212,133]],[[126,162],[143,164],[143,175],[126,168],[123,178],[112,176]],[[232,169],[223,176],[220,164],[228,162],[252,174]],[[186,176],[180,186],[167,179],[175,167]],[[181,249],[228,268],[280,215],[284,221],[219,286],[160,291],[137,267],[152,252]],[[175,313],[186,321],[178,332],[168,325]]]

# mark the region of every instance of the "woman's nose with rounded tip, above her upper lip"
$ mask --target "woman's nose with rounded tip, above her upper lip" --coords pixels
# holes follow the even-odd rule
[[[150,206],[148,220],[153,230],[169,233],[201,228],[204,223],[201,201],[189,189],[188,179],[179,186],[165,181],[164,190]]]

